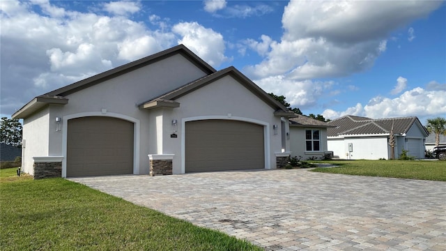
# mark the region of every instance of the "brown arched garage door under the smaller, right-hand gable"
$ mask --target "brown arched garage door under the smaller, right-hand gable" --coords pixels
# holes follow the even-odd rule
[[[265,168],[263,126],[215,119],[185,127],[185,172]]]

